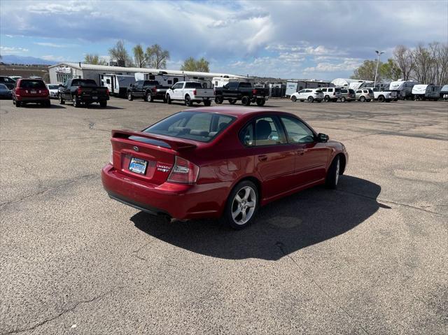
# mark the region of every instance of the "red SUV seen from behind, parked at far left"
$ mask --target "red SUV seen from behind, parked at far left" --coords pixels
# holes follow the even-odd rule
[[[41,79],[20,78],[13,89],[13,104],[20,107],[28,103],[50,107],[50,92]]]

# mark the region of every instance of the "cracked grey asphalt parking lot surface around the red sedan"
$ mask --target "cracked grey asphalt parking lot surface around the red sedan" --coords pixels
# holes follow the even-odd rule
[[[267,101],[350,161],[244,231],[102,189],[111,129],[185,108],[0,101],[0,334],[447,334],[446,101]]]

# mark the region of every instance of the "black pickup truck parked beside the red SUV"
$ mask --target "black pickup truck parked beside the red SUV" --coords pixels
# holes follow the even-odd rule
[[[65,101],[71,101],[73,107],[88,106],[94,102],[106,107],[109,100],[107,87],[98,86],[92,79],[69,79],[64,85],[59,85],[57,95],[59,104],[63,105]]]

